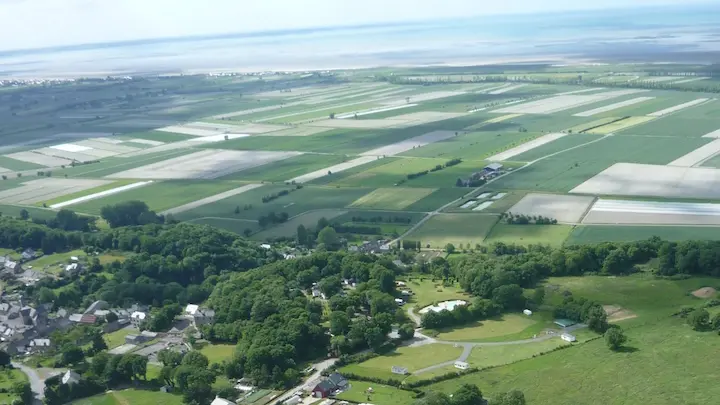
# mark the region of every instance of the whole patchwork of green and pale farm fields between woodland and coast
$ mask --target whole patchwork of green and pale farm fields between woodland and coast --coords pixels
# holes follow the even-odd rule
[[[572,227],[720,226],[701,207],[720,203],[717,97],[642,88],[688,79],[635,76],[599,75],[590,87],[465,75],[431,87],[292,79],[291,92],[261,86],[183,119],[100,120],[9,148],[0,202],[99,215],[141,200],[258,240],[292,237],[324,216],[391,212],[412,225],[379,226],[383,234],[392,228],[430,249],[558,245]],[[683,85],[703,82],[695,79]],[[508,226],[508,213],[559,225]],[[271,214],[285,222],[267,223]]]

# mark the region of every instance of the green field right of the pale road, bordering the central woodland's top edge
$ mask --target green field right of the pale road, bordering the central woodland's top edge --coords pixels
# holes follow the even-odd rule
[[[427,220],[406,239],[420,241],[422,247],[444,249],[448,243],[460,245],[482,243],[497,222],[495,215],[485,214],[438,214]]]

